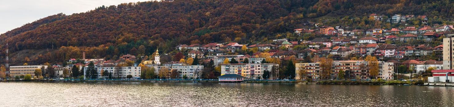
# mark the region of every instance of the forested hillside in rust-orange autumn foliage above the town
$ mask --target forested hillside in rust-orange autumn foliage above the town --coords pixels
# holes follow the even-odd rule
[[[179,44],[240,42],[281,38],[308,20],[329,15],[420,14],[453,17],[449,0],[174,0],[100,6],[79,14],[57,14],[0,35],[10,52],[47,49],[43,55],[14,56],[14,61],[61,62],[110,58],[127,53],[149,55],[173,51]],[[70,47],[74,46],[74,47]],[[139,48],[144,52],[135,52]],[[54,49],[50,50],[49,49]],[[4,59],[4,51],[0,58]],[[1,60],[4,61],[4,60]],[[42,63],[42,62],[38,62]]]

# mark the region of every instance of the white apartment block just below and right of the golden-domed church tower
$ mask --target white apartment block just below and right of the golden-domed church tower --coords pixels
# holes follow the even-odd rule
[[[148,64],[145,65],[149,68],[153,67],[155,69],[154,74],[159,74],[159,70],[166,68],[168,71],[177,70],[178,77],[170,77],[172,79],[178,78],[183,79],[183,76],[186,75],[188,79],[197,79],[202,74],[203,65],[188,65],[187,63],[181,62],[171,62],[163,63],[162,65],[158,64]]]

